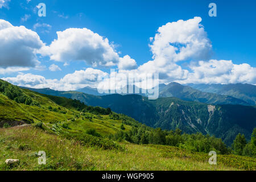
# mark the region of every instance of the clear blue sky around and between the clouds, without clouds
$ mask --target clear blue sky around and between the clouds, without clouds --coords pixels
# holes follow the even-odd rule
[[[36,5],[41,2],[46,4],[46,17],[37,15]],[[211,2],[217,5],[217,17],[208,15],[208,5]],[[255,71],[255,7],[256,2],[250,0],[9,0],[5,7],[0,9],[0,19],[6,20],[13,26],[25,26],[27,29],[35,31],[47,46],[54,39],[57,39],[57,31],[65,31],[68,28],[88,28],[94,33],[108,38],[109,42],[113,42],[119,57],[129,55],[140,66],[152,60],[152,56],[154,56],[148,44],[151,44],[150,38],[155,36],[159,27],[168,22],[188,20],[199,16],[202,19],[200,24],[203,24],[207,38],[212,45],[210,56],[208,60],[204,61],[210,59],[232,60],[232,63],[236,65],[249,64],[253,68],[252,70]],[[36,23],[47,24],[51,28],[39,27],[35,29]],[[68,66],[64,66],[63,62],[50,60],[49,56],[39,56],[38,60],[44,66],[44,69],[29,69],[22,71],[22,73],[31,73],[43,76],[46,79],[60,80],[68,73],[92,67],[92,65],[86,64],[85,61],[71,61]],[[191,72],[192,69],[188,66],[188,64],[191,64],[191,60],[190,58],[180,60],[175,65]],[[48,67],[52,64],[57,65],[61,71],[49,71]],[[100,69],[109,73],[109,67],[93,67],[93,69]],[[18,72],[5,72],[0,77],[16,77],[18,74]],[[250,82],[255,84],[254,75],[253,78],[249,79],[250,81],[240,80],[224,82]]]

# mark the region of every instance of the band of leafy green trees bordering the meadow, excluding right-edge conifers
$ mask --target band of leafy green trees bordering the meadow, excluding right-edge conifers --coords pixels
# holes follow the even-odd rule
[[[162,144],[184,148],[195,152],[216,151],[218,154],[230,154],[230,149],[221,139],[210,137],[210,135],[182,134],[180,129],[166,131],[160,128],[146,130],[145,125],[132,127],[128,132],[118,131],[110,136],[114,140],[126,140],[136,144]]]

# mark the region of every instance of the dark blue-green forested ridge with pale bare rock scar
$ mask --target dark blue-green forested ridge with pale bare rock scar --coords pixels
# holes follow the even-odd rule
[[[150,127],[173,130],[179,127],[186,133],[203,133],[222,138],[231,144],[238,133],[249,139],[256,126],[256,107],[242,105],[210,105],[183,101],[174,97],[148,100],[129,94],[93,96],[81,92],[61,92],[51,89],[30,89],[53,96],[80,100],[86,105],[110,107],[117,113],[129,115]]]

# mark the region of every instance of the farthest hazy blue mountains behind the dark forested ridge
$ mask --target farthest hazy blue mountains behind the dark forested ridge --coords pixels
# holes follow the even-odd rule
[[[147,94],[143,94],[145,90],[137,86],[134,86],[133,90],[135,88],[140,91],[139,95],[147,97]],[[94,96],[105,96],[110,93],[110,90],[104,90],[104,93],[100,94],[96,88],[90,88],[89,86],[76,91]],[[171,82],[168,85],[159,85],[159,97],[176,97],[185,101],[197,101],[207,104],[255,105],[256,86],[249,84],[181,85]]]

